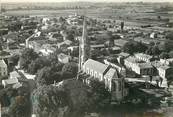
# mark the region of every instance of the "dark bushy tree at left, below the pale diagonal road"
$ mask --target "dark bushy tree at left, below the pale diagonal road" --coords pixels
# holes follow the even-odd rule
[[[22,51],[22,54],[20,56],[20,67],[22,69],[28,70],[29,64],[38,58],[38,54],[34,52],[33,49],[26,48]]]

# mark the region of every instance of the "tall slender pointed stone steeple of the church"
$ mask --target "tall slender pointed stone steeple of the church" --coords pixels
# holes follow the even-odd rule
[[[90,41],[87,38],[87,23],[84,16],[82,38],[79,40],[79,71],[86,60],[90,58]]]

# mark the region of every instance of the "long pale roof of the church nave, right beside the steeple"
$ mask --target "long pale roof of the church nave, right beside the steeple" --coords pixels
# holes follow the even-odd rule
[[[92,69],[94,71],[97,71],[99,73],[104,73],[107,69],[108,69],[108,65],[105,65],[101,62],[92,60],[92,59],[88,59],[85,63],[84,66]]]

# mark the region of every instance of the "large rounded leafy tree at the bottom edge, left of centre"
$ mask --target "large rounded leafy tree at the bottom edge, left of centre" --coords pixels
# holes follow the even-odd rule
[[[61,111],[68,111],[67,94],[52,85],[40,86],[31,96],[33,113],[38,117],[59,117]]]

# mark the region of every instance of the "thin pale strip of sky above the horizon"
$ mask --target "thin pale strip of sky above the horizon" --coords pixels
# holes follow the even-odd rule
[[[173,2],[173,0],[0,0],[1,2]]]

